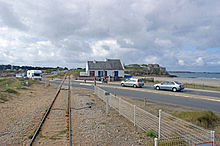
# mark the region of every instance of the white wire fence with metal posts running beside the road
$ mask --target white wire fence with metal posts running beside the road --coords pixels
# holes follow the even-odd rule
[[[105,90],[97,86],[94,86],[94,92],[106,103],[106,112],[108,112],[107,107],[110,106],[131,121],[134,126],[146,132],[155,131],[158,138],[157,146],[166,146],[165,143],[169,146],[172,142],[179,142],[176,145],[185,146],[215,141],[214,131],[196,126],[161,110],[158,115],[153,115],[116,95],[106,94]],[[155,144],[155,141],[153,143]]]

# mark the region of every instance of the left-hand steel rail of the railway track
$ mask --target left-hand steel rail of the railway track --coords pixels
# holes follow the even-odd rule
[[[31,138],[31,141],[30,141],[30,143],[28,144],[28,146],[32,146],[34,140],[36,139],[37,134],[39,133],[39,131],[40,131],[40,129],[41,129],[41,127],[42,127],[44,121],[46,120],[48,114],[50,113],[50,110],[51,110],[51,108],[52,108],[52,106],[53,106],[53,104],[54,104],[54,102],[55,102],[57,96],[58,96],[59,93],[60,93],[61,87],[62,87],[64,81],[66,80],[66,77],[67,77],[67,73],[65,74],[63,81],[60,83],[59,88],[58,88],[57,93],[56,93],[56,96],[54,97],[52,103],[50,104],[50,107],[47,109],[47,112],[44,114],[44,117],[43,117],[43,119],[41,120],[39,126],[37,127],[37,130],[35,131],[33,137]]]

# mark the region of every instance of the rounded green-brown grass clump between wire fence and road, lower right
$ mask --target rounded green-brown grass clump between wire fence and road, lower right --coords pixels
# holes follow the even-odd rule
[[[204,128],[213,128],[220,122],[220,117],[212,111],[187,111],[175,116]]]

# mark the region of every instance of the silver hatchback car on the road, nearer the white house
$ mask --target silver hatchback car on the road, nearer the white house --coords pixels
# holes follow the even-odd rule
[[[121,82],[121,86],[130,86],[130,87],[143,87],[144,86],[144,82],[142,79],[136,79],[136,78],[130,78],[130,79],[126,79],[125,81]]]

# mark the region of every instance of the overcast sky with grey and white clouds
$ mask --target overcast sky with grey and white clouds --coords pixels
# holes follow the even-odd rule
[[[220,0],[0,0],[0,64],[220,72]]]

